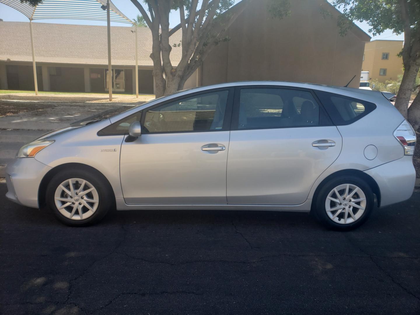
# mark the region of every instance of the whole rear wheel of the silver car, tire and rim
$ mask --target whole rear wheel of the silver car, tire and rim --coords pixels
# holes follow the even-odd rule
[[[321,188],[315,215],[328,228],[349,230],[362,225],[373,206],[373,192],[365,181],[356,176],[340,176]]]

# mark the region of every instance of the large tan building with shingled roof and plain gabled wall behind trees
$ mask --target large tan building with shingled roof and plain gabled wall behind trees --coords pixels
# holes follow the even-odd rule
[[[268,1],[254,1],[184,88],[242,80],[283,80],[342,86],[359,75],[370,37],[354,26],[339,35],[339,11],[325,0],[292,1],[291,16],[268,15]],[[320,8],[331,12],[323,18]],[[34,23],[39,90],[105,92],[108,73],[106,26]],[[111,27],[113,91],[135,91],[134,28]],[[139,92],[154,93],[152,38],[138,28]],[[171,37],[177,44],[181,32]],[[176,66],[181,47],[173,47]],[[351,87],[358,87],[353,80]],[[0,21],[0,88],[34,89],[29,23]]]

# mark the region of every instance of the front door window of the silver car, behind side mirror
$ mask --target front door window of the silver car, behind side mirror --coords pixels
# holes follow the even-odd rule
[[[145,112],[145,133],[223,129],[229,91],[217,91],[160,105]]]

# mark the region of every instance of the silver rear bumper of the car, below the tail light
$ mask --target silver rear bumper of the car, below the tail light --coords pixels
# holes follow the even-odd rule
[[[411,197],[416,181],[416,171],[411,156],[379,165],[365,171],[378,184],[381,192],[381,207],[402,202]]]

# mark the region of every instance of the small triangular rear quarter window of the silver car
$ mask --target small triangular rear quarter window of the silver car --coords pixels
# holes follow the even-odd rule
[[[372,112],[376,105],[339,94],[315,91],[333,123],[337,126],[349,125]]]

